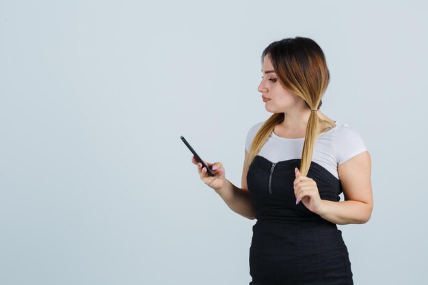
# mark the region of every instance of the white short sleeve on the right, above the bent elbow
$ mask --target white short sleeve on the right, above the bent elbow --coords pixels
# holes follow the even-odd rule
[[[360,133],[347,124],[343,124],[336,130],[334,149],[338,165],[367,150]]]

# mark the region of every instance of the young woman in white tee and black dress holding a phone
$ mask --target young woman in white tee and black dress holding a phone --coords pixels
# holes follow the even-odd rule
[[[241,188],[225,178],[222,163],[205,161],[211,177],[192,162],[232,211],[257,219],[250,285],[353,284],[336,225],[371,217],[369,152],[358,132],[319,110],[330,72],[314,40],[272,42],[262,54],[262,73],[258,92],[273,115],[248,131]]]

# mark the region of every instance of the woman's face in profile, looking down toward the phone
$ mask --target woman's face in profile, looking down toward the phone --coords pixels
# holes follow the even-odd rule
[[[302,98],[292,94],[282,87],[276,71],[273,69],[271,59],[269,55],[266,55],[263,59],[262,67],[262,81],[258,85],[258,92],[262,94],[264,100],[265,109],[271,113],[283,113],[287,110],[293,109],[297,104],[302,103]]]

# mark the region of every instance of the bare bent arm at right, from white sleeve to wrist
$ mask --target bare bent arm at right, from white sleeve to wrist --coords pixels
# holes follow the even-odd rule
[[[338,174],[345,201],[321,200],[322,206],[317,214],[339,225],[366,223],[373,210],[369,152],[362,152],[338,165]]]

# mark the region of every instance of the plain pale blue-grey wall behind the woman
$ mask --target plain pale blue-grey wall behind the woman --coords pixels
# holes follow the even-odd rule
[[[248,284],[255,220],[180,135],[240,187],[260,55],[295,36],[371,153],[371,220],[338,226],[354,283],[425,282],[426,2],[151,2],[0,1],[0,284]]]

